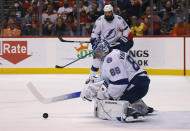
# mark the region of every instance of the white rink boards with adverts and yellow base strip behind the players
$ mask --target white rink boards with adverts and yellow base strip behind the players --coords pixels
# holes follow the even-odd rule
[[[66,40],[89,41],[87,37]],[[186,40],[186,68],[189,70],[190,45]],[[92,64],[88,55],[64,69],[64,66],[92,51],[90,43],[60,42],[58,38],[2,38],[0,40],[0,73],[87,74]],[[184,74],[184,37],[137,37],[129,54],[149,74]]]

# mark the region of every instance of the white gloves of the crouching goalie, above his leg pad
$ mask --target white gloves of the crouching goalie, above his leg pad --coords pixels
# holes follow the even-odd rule
[[[107,99],[109,95],[107,93],[107,86],[104,81],[96,83],[89,82],[85,85],[81,92],[81,98],[83,100],[92,101],[93,99]]]

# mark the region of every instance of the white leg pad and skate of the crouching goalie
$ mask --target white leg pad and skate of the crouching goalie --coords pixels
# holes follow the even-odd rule
[[[142,114],[132,108],[128,101],[96,100],[94,115],[103,120],[133,122],[144,120]]]

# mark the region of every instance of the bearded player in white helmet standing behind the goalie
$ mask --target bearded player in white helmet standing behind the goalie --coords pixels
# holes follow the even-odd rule
[[[98,40],[105,40],[112,49],[127,52],[133,46],[133,36],[125,20],[113,12],[112,5],[104,6],[104,15],[100,16],[93,27],[90,42],[92,48]],[[87,81],[93,81],[100,67],[99,59],[94,58],[91,66],[90,77]]]

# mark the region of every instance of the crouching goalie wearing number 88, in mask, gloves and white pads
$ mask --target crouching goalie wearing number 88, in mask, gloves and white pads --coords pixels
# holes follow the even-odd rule
[[[81,93],[87,100],[96,100],[95,116],[102,119],[139,120],[148,113],[141,101],[149,89],[146,71],[126,52],[110,48],[107,41],[97,41],[94,56],[102,60],[101,75]]]

